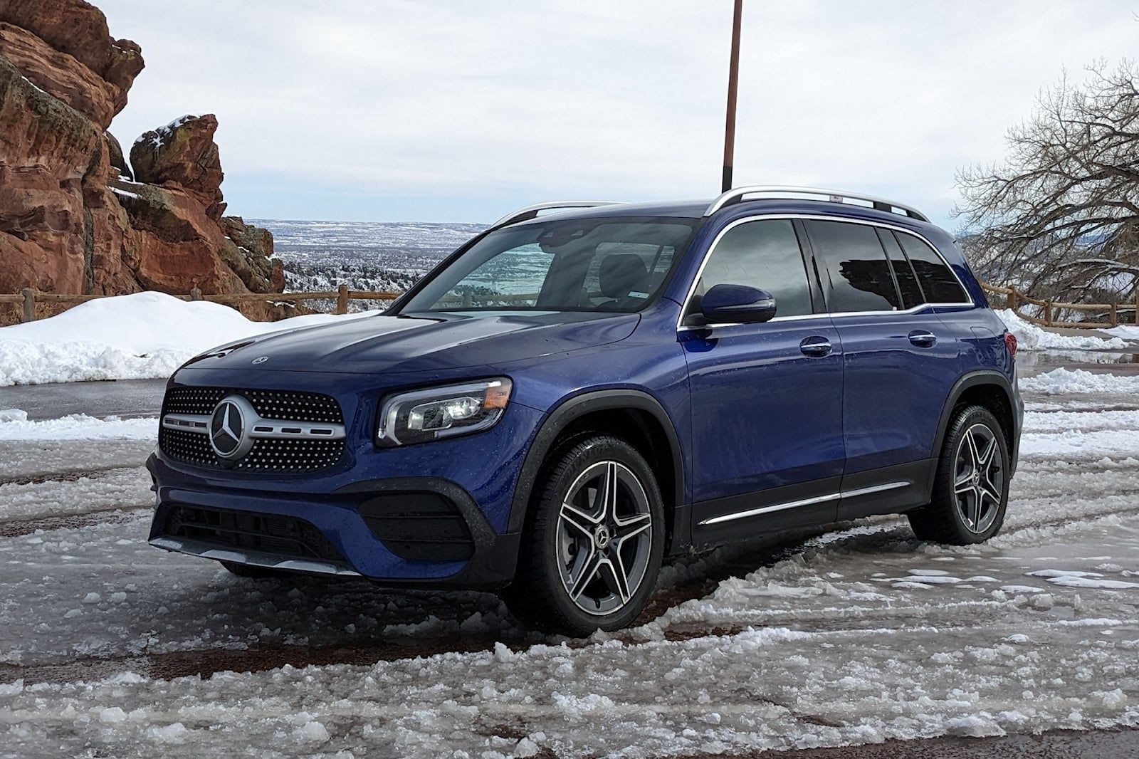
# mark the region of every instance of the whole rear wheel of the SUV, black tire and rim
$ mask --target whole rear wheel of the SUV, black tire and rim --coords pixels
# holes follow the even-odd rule
[[[910,527],[921,540],[984,542],[1005,523],[1008,483],[1008,442],[997,417],[982,406],[959,407],[941,447],[933,498],[909,513]]]

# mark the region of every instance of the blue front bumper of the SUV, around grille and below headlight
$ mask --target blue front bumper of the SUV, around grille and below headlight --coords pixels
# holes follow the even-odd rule
[[[186,369],[175,382],[254,384],[244,374]],[[369,383],[364,377],[273,374],[274,387],[331,391],[343,409],[344,454],[337,464],[319,471],[241,472],[173,460],[156,451],[148,462],[157,491],[151,542],[220,561],[359,574],[391,586],[508,583],[519,542],[519,534],[508,527],[510,508],[541,413],[511,403],[485,432],[380,449],[371,432],[385,391]],[[174,509],[191,514],[192,519],[181,520],[190,529],[170,529]],[[213,523],[206,524],[210,520]],[[282,521],[293,527],[282,527]],[[334,554],[293,550],[296,531],[310,528]],[[282,546],[290,550],[282,553]]]

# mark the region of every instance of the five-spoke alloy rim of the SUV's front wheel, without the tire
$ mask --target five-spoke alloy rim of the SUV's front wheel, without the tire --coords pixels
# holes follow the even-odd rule
[[[558,512],[558,570],[571,601],[597,615],[628,604],[648,569],[652,528],[645,487],[628,466],[587,467]]]

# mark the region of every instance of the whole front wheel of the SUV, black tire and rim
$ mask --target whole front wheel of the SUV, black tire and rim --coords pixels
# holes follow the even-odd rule
[[[664,555],[664,504],[653,470],[612,435],[576,438],[551,460],[517,576],[503,593],[507,605],[525,622],[564,635],[628,627],[653,593]]]

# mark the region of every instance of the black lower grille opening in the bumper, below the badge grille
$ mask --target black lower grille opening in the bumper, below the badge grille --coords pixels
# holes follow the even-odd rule
[[[346,564],[320,530],[295,516],[174,504],[167,511],[162,534],[216,548]]]

